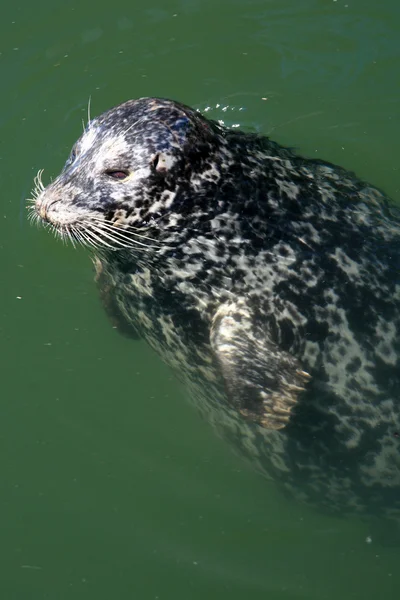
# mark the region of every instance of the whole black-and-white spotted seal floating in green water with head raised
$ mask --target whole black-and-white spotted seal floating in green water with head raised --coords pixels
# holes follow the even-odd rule
[[[400,515],[400,217],[348,171],[177,102],[92,120],[33,213],[117,327],[293,496]]]

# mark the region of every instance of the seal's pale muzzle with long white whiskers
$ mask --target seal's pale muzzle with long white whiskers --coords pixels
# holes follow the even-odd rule
[[[135,249],[152,252],[164,248],[143,233],[143,228],[120,220],[110,221],[104,213],[83,211],[66,205],[60,198],[51,198],[43,185],[42,174],[43,170],[37,173],[32,197],[28,199],[28,218],[34,224],[50,228],[56,237],[71,242],[74,247],[82,245],[96,251]]]

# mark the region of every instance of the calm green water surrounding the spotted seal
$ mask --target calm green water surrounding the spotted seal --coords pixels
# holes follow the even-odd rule
[[[143,95],[209,107],[400,200],[399,6],[2,6],[1,600],[400,596],[400,547],[249,470],[150,350],[110,327],[86,253],[30,227],[24,208],[90,96],[93,115]]]

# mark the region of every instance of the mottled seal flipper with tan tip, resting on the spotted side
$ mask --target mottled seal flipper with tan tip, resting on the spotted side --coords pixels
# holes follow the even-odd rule
[[[267,429],[285,427],[311,379],[300,362],[257,329],[245,304],[218,309],[210,341],[232,405]]]

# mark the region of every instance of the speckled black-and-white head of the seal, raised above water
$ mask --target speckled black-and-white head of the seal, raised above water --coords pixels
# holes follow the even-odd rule
[[[186,206],[179,206],[177,182],[182,186],[189,169],[192,179],[203,172],[222,139],[216,127],[182,105],[128,101],[89,123],[60,176],[38,199],[37,211],[44,221],[75,233],[98,219],[122,228],[162,219],[160,235],[173,202],[180,211],[192,209],[187,197]]]

